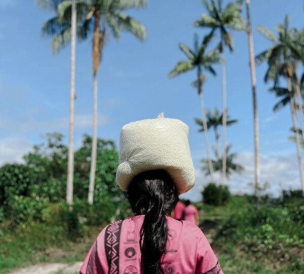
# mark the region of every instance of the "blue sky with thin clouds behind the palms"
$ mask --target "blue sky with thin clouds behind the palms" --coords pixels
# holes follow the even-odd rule
[[[256,26],[273,31],[285,14],[290,26],[303,27],[301,0],[251,1],[255,54],[270,47]],[[224,1],[227,3],[227,1]],[[193,46],[194,33],[200,38],[208,32],[194,28],[193,21],[205,10],[200,0],[153,0],[148,7],[129,14],[147,28],[145,42],[129,33],[121,41],[107,38],[98,73],[98,136],[119,144],[119,133],[128,122],[155,118],[161,112],[189,125],[189,142],[197,170],[197,183],[186,197],[199,199],[199,191],[208,178],[200,171],[205,156],[204,136],[194,122],[201,117],[199,97],[191,86],[195,72],[168,78],[175,63],[184,58],[178,49],[183,42]],[[244,14],[245,15],[245,14]],[[69,100],[70,47],[53,55],[50,38],[42,37],[42,24],[53,14],[37,7],[34,0],[0,0],[0,164],[20,161],[33,144],[41,142],[46,132],[67,135]],[[227,107],[238,124],[227,130],[227,143],[238,153],[246,168],[228,182],[235,193],[251,192],[253,181],[253,118],[247,37],[233,32],[235,52],[226,51]],[[83,133],[91,134],[92,60],[91,40],[77,44],[75,101],[75,145]],[[212,49],[212,47],[210,48]],[[267,66],[256,70],[260,120],[260,153],[262,181],[271,184],[275,195],[282,188],[300,188],[295,146],[288,141],[291,118],[289,108],[273,113],[277,99],[268,92],[271,84],[263,83]],[[221,70],[217,77],[208,76],[204,85],[208,109],[221,109]],[[214,142],[213,134],[209,138]]]

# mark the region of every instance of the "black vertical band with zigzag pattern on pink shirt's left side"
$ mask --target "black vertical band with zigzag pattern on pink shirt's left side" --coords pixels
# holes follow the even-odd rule
[[[123,221],[107,226],[105,230],[104,249],[109,265],[109,274],[119,273],[119,244]]]

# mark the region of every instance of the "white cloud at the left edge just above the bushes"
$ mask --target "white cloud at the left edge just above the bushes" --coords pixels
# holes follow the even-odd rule
[[[18,137],[0,139],[0,165],[22,162],[22,156],[32,148],[32,143]]]

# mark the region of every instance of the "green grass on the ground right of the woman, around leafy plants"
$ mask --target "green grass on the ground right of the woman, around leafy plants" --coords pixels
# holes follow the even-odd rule
[[[209,239],[225,274],[292,274],[304,272],[304,247],[302,245],[304,239],[303,233],[301,233],[304,230],[304,226],[288,218],[286,223],[284,223],[276,220],[277,215],[271,216],[271,213],[276,212],[275,210],[278,209],[278,205],[271,203],[264,205],[266,209],[270,209],[267,211],[270,216],[266,218],[269,218],[270,221],[266,220],[265,223],[267,225],[270,223],[273,228],[272,237],[269,234],[265,234],[264,242],[273,241],[274,244],[271,249],[261,248],[262,245],[256,245],[258,247],[256,249],[254,237],[260,239],[261,226],[254,222],[250,224],[250,221],[254,221],[254,218],[246,214],[242,216],[242,220],[244,224],[246,222],[249,223],[247,226],[248,233],[246,232],[246,225],[241,223],[240,225],[243,225],[243,227],[239,227],[237,223],[237,227],[233,227],[232,231],[239,234],[239,236],[228,234],[219,237],[217,235],[220,227],[224,222],[229,223],[227,220],[230,220],[232,215],[239,214],[240,211],[246,211],[246,209],[252,207],[246,197],[234,196],[225,207],[212,207],[203,203],[197,203],[196,205],[200,209],[200,227]],[[280,217],[281,215],[278,216]],[[284,242],[285,239],[278,241],[278,238],[282,236],[282,231],[284,231],[284,237],[288,241],[296,235],[296,243]],[[262,234],[262,236],[264,235]],[[277,244],[278,242],[279,244]]]

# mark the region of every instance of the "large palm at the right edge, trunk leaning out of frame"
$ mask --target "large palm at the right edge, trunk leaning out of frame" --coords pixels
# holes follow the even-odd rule
[[[280,76],[283,76],[287,81],[288,99],[285,96],[284,102],[286,101],[289,102],[293,128],[295,128],[296,153],[297,153],[297,160],[298,160],[298,167],[300,174],[300,182],[304,194],[304,177],[303,177],[303,170],[301,163],[299,134],[296,126],[297,121],[296,121],[296,112],[295,112],[295,96],[294,96],[295,91],[293,91],[292,88],[292,72],[293,72],[292,64],[295,62],[295,60],[300,60],[301,62],[304,62],[304,54],[302,51],[302,44],[298,43],[299,41],[296,39],[298,37],[296,35],[297,30],[294,28],[288,30],[288,25],[289,25],[289,16],[285,16],[284,23],[279,24],[277,26],[278,37],[267,27],[259,26],[258,30],[266,38],[274,42],[274,45],[271,46],[270,49],[267,49],[262,53],[258,54],[255,58],[258,63],[261,63],[263,61],[268,62],[268,71],[264,77],[265,82],[268,82],[268,80],[273,80],[274,86],[275,88],[277,88],[279,84]],[[286,89],[284,92],[286,92]]]

